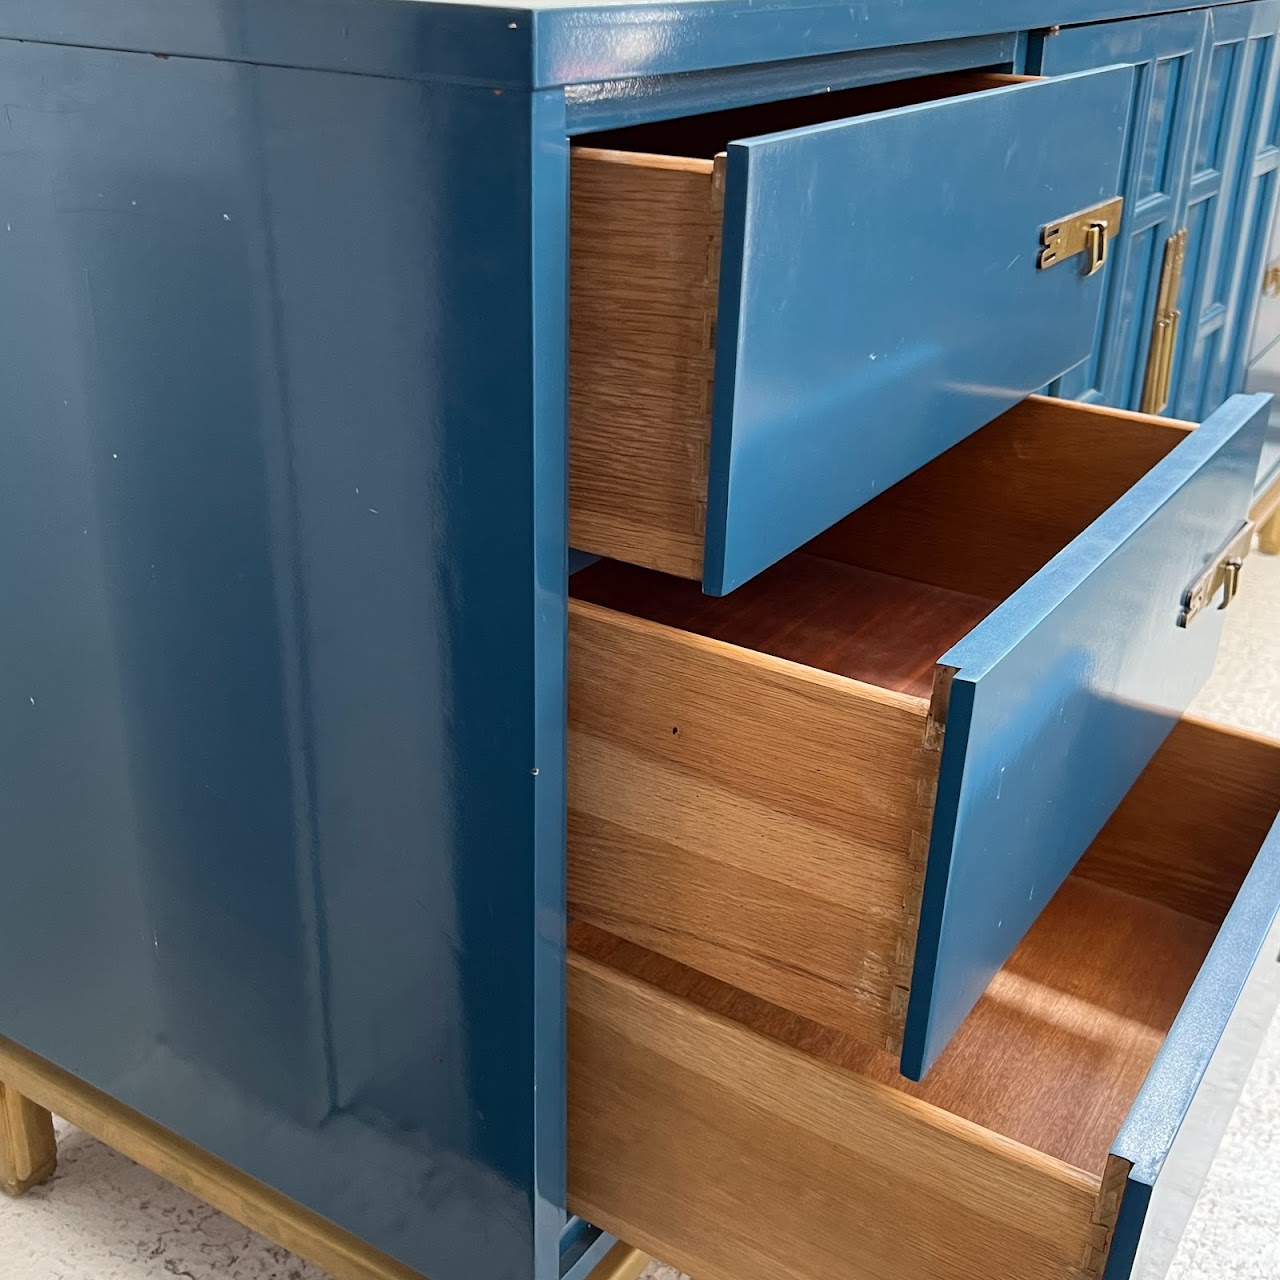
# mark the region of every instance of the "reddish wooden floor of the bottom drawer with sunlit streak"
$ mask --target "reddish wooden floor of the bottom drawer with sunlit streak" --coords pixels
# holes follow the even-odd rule
[[[897,1060],[575,923],[580,954],[1101,1176],[1215,928],[1071,877],[919,1084]]]

